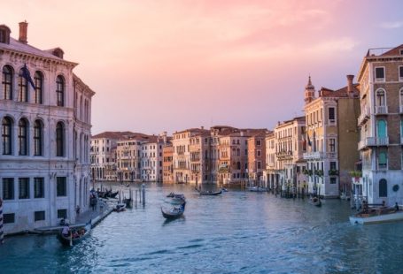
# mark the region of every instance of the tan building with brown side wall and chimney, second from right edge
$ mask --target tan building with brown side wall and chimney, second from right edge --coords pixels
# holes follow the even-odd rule
[[[349,171],[359,160],[357,149],[353,148],[359,136],[355,122],[359,116],[359,95],[353,75],[347,75],[345,88],[321,88],[318,97],[309,78],[305,90],[304,159],[310,193],[336,198],[340,192],[351,189]]]

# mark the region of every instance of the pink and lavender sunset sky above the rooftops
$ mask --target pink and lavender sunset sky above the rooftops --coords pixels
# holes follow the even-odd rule
[[[369,48],[403,43],[403,1],[2,1],[0,24],[60,47],[97,94],[92,133],[229,125],[303,115],[308,75],[342,88]]]

